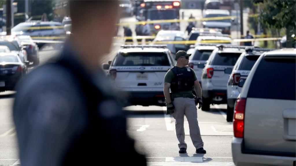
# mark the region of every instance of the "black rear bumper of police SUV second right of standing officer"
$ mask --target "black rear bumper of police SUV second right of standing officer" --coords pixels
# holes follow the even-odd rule
[[[227,103],[227,90],[213,89],[202,90],[202,97],[209,99],[212,104],[226,104]]]

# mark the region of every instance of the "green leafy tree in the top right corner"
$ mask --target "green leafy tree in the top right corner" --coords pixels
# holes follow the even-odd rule
[[[296,29],[296,1],[295,0],[264,0],[254,1],[260,4],[259,20],[263,26],[270,28],[285,28],[287,35],[287,48],[292,47],[291,35]]]

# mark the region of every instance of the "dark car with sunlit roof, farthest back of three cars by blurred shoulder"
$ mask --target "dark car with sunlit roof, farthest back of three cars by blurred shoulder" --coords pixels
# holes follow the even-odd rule
[[[39,48],[36,43],[33,42],[32,38],[28,35],[17,36],[20,40],[20,44],[27,51],[28,61],[33,62],[35,66],[39,64]]]

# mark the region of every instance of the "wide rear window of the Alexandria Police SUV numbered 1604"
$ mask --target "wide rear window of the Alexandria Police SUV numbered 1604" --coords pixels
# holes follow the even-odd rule
[[[115,66],[170,66],[166,53],[119,53]]]

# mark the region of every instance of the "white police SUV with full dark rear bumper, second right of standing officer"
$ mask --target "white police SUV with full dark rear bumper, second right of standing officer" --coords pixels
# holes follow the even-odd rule
[[[225,69],[233,68],[247,46],[218,45],[210,55],[202,71],[202,110],[210,110],[210,104],[227,103]]]

